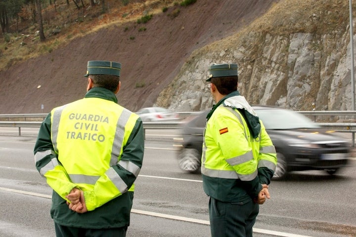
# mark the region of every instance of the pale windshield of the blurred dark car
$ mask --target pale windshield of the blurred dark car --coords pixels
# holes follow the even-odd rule
[[[285,109],[256,109],[259,118],[267,129],[298,129],[298,128],[318,128],[308,117]]]

